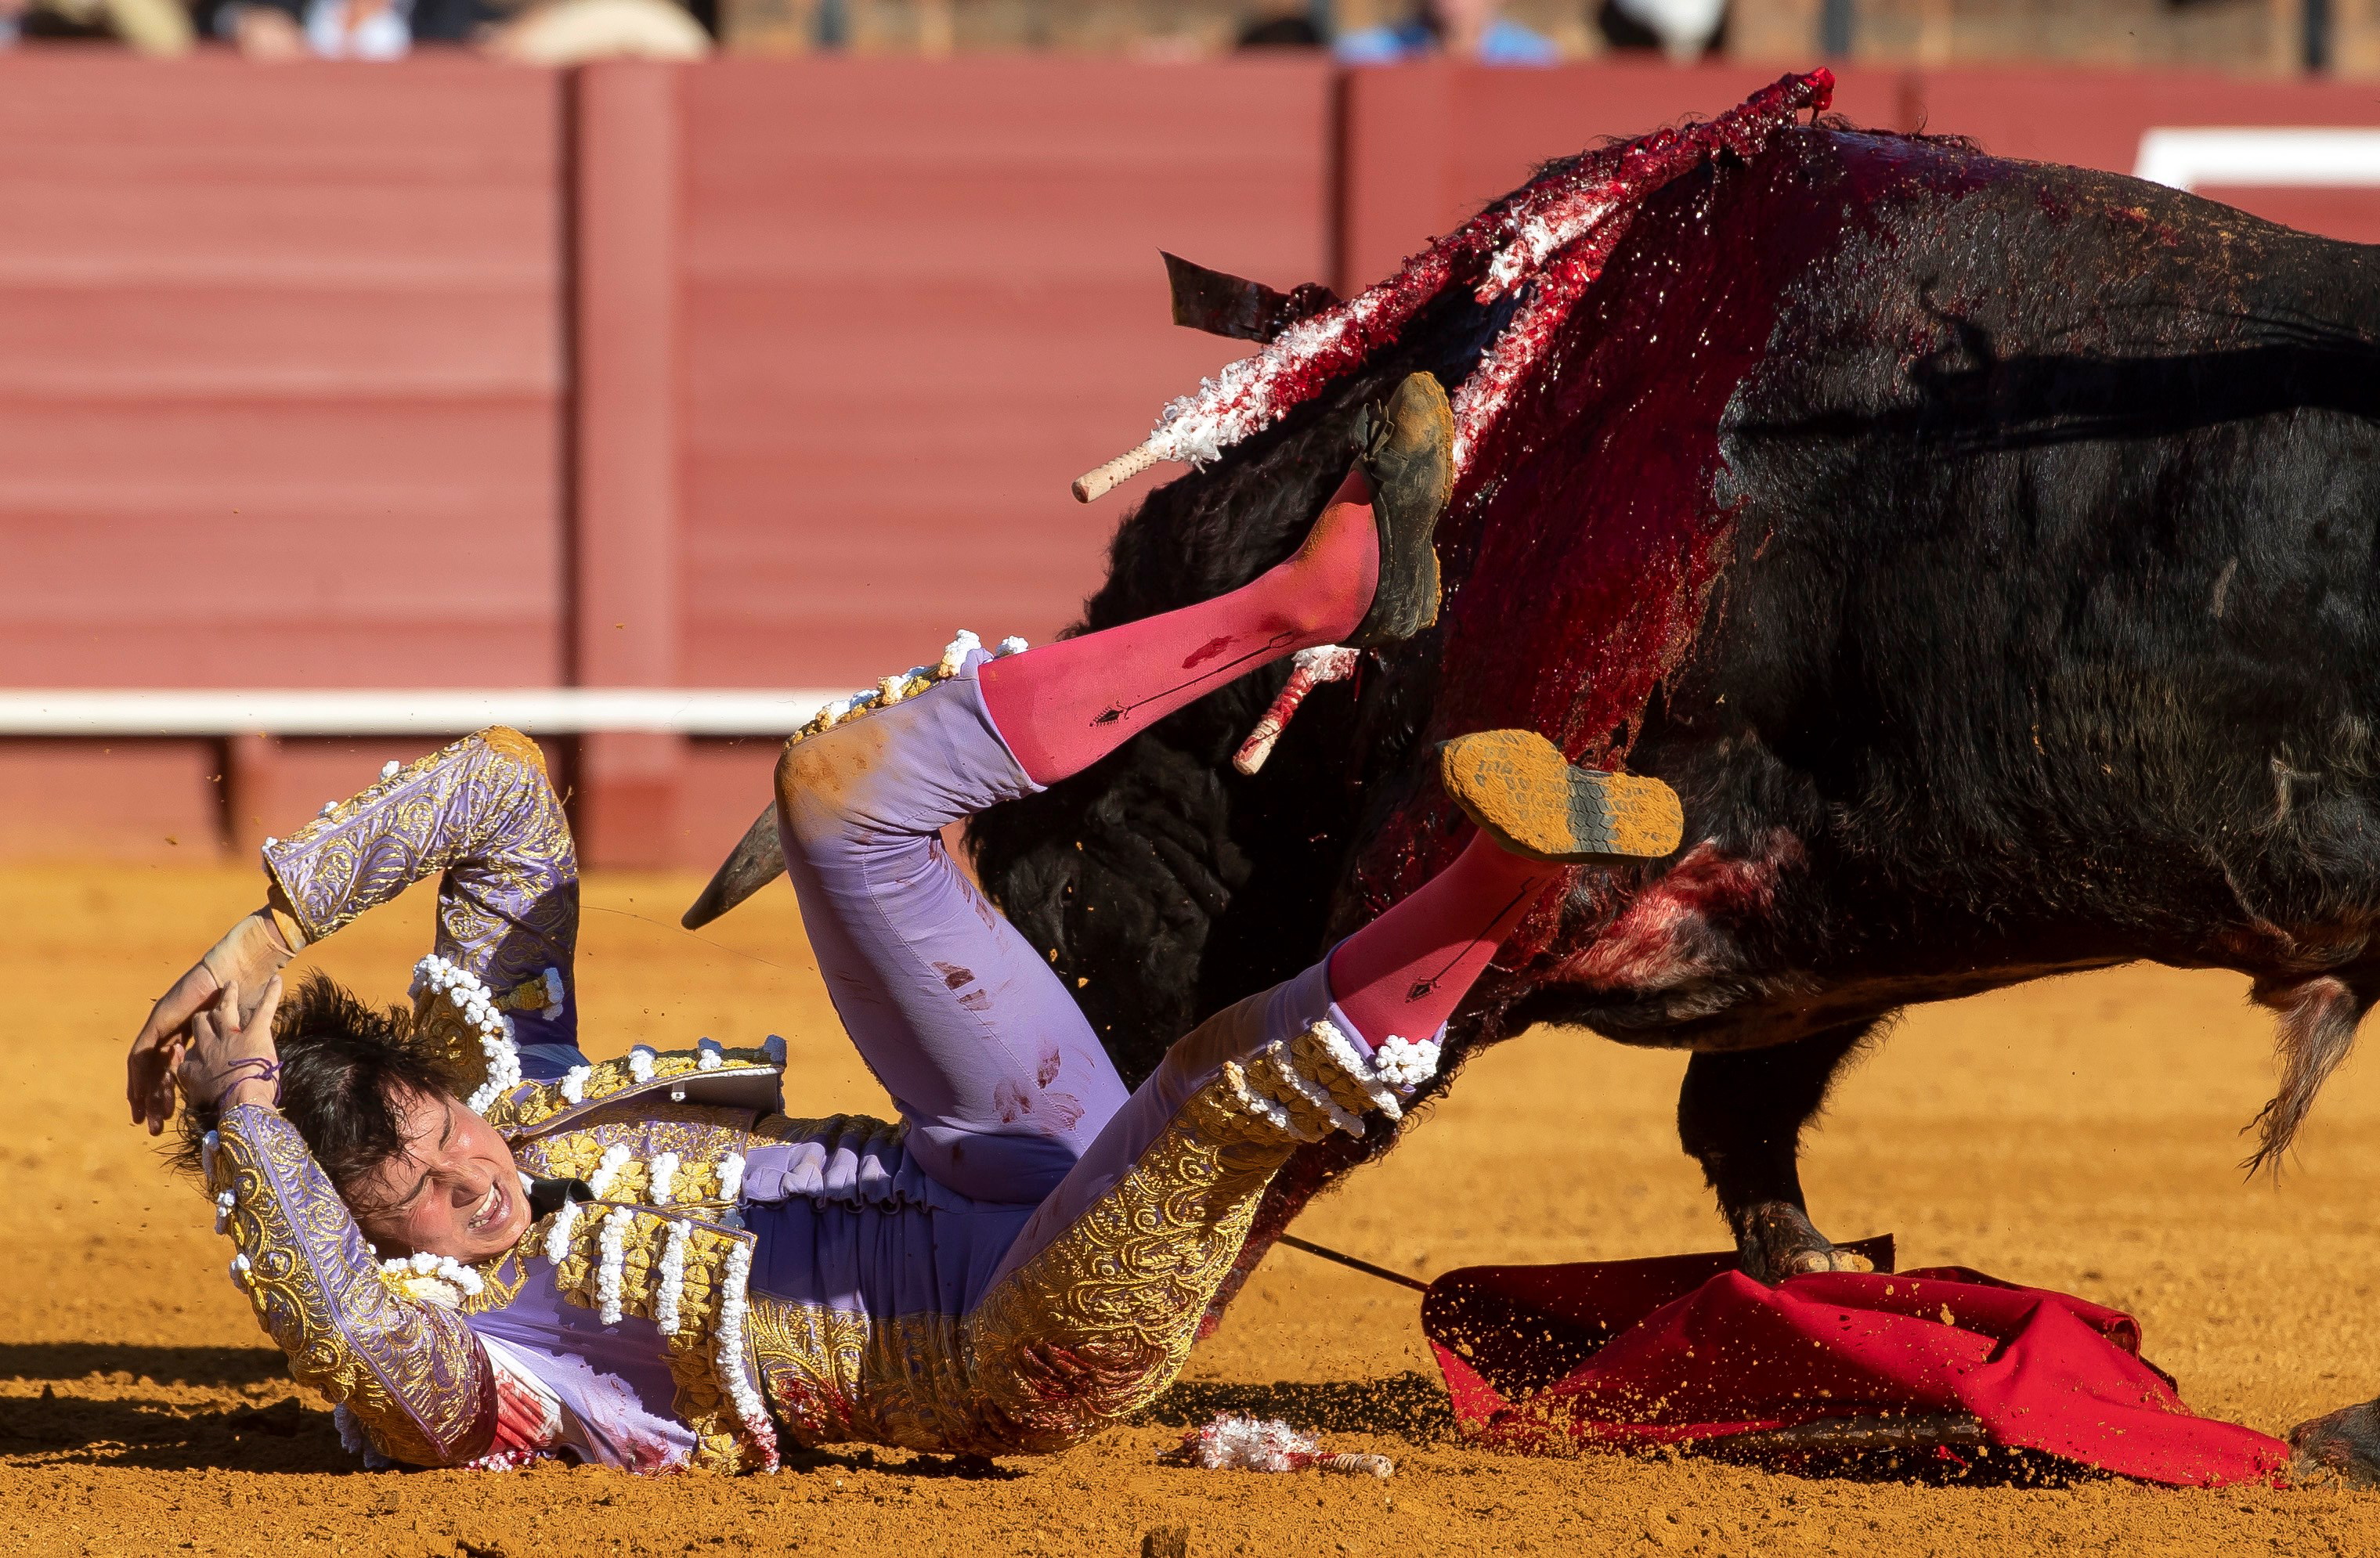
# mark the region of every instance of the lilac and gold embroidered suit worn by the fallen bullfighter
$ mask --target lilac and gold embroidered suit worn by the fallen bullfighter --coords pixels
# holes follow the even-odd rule
[[[236,1280],[293,1358],[371,1363],[317,1380],[371,1446],[635,1470],[766,1468],[778,1434],[1057,1449],[1171,1382],[1297,1142],[1395,1113],[1321,966],[1219,1013],[1138,1092],[1121,1085],[1057,975],[942,849],[942,825],[1033,790],[978,661],[795,742],[781,785],[804,928],[897,1125],[788,1118],[781,1051],[583,1056],[576,859],[536,747],[509,730],[267,847],[276,906],[309,940],[440,875],[438,954],[505,1011],[519,1056],[521,1082],[486,1113],[528,1175],[590,1196],[481,1273],[355,1273],[340,1292],[376,1308],[317,1284],[274,1292],[267,1313],[257,1273],[286,1265],[267,1232],[321,1244],[312,1268],[359,1261],[319,1173],[271,1180],[305,1215],[231,1218],[257,1244]],[[419,1011],[445,1016],[438,999]],[[228,1156],[255,1156],[250,1139],[288,1156],[293,1132],[250,1113],[226,1116]],[[383,1289],[459,1311],[462,1327],[407,1332],[438,1337],[436,1368],[381,1361]],[[469,1430],[469,1411],[407,1394],[481,1375],[495,1389]],[[343,1394],[367,1377],[397,1384]]]

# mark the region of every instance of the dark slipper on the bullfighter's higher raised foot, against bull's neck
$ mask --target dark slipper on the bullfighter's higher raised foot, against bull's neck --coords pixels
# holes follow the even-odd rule
[[[1407,373],[1385,404],[1364,407],[1357,428],[1371,523],[1380,530],[1380,585],[1347,637],[1376,649],[1438,621],[1438,547],[1430,535],[1454,495],[1454,409],[1428,373]]]

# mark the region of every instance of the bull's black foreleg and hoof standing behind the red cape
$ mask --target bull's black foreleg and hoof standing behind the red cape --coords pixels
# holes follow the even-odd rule
[[[1775,1049],[1697,1054],[1678,1092],[1678,1139],[1718,1192],[1745,1273],[1778,1282],[1809,1270],[1866,1270],[1828,1244],[1802,1201],[1802,1127],[1835,1068],[1875,1020],[1828,1028]]]

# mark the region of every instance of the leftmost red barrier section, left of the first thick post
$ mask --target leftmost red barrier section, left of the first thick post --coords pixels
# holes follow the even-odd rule
[[[562,673],[552,74],[0,55],[0,680]],[[328,787],[224,768],[0,745],[0,854],[205,854]]]

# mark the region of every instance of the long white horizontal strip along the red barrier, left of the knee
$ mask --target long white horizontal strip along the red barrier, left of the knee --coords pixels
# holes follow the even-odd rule
[[[490,687],[490,690],[0,690],[0,735],[540,735],[662,730],[793,735],[843,692],[816,687]]]

